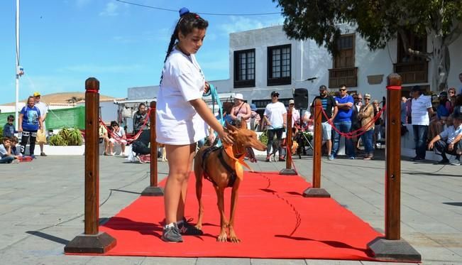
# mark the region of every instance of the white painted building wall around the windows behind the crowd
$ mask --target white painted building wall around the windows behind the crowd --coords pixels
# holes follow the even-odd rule
[[[352,33],[353,28],[342,25],[343,33]],[[268,86],[267,82],[267,48],[275,45],[292,45],[292,83],[290,85]],[[356,33],[356,58],[355,65],[358,67],[358,87],[350,87],[350,90],[358,90],[361,93],[370,93],[373,99],[379,101],[386,95],[387,75],[393,70],[393,63],[397,61],[397,41],[392,40],[383,50],[371,52],[363,38]],[[229,79],[210,81],[219,92],[234,92],[243,94],[244,98],[251,102],[255,99],[269,99],[270,92],[277,90],[282,98],[292,97],[295,88],[307,88],[309,101],[318,94],[320,85],[329,85],[329,69],[332,68],[332,56],[324,47],[319,47],[314,40],[290,40],[282,31],[282,26],[271,26],[251,31],[231,33],[229,36]],[[427,45],[431,50],[431,41]],[[255,48],[255,87],[233,88],[233,65],[234,51]],[[449,87],[460,87],[458,74],[462,72],[462,38],[459,38],[450,46],[451,72],[449,73]],[[431,64],[429,64],[431,71]],[[378,85],[368,84],[368,75],[383,75],[383,81]],[[317,77],[313,81],[306,80],[309,77]],[[431,72],[429,82],[431,83]],[[158,86],[131,87],[128,88],[128,99],[153,98],[157,95]]]

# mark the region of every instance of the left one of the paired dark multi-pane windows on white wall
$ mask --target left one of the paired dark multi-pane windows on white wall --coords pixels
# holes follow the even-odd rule
[[[255,49],[234,52],[234,87],[255,87]]]

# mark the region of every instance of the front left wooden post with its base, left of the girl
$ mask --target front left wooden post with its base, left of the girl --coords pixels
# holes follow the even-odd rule
[[[85,81],[85,222],[84,234],[66,245],[66,253],[104,253],[116,239],[99,233],[99,81]]]

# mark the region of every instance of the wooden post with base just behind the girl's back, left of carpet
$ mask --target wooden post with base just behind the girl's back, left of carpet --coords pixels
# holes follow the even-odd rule
[[[164,190],[158,187],[158,146],[155,135],[155,101],[150,102],[150,185],[146,187],[141,196],[163,196]]]

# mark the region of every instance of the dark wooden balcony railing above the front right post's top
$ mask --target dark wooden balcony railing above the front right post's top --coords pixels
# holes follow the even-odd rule
[[[397,74],[401,75],[403,84],[428,82],[429,63],[427,61],[394,63],[393,70]]]

